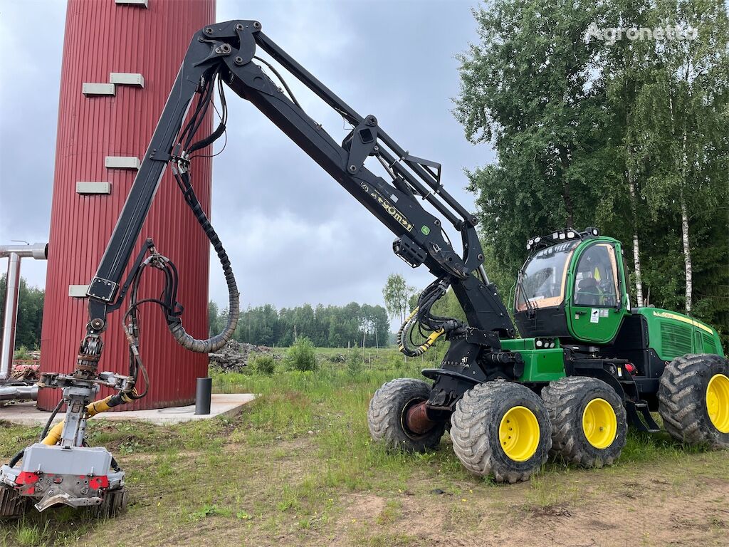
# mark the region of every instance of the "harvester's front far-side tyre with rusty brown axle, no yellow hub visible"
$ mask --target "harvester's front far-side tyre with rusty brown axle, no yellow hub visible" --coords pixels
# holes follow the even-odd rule
[[[390,450],[424,452],[440,443],[445,422],[420,435],[408,430],[405,413],[411,406],[427,400],[430,386],[422,380],[399,378],[383,384],[370,400],[367,424],[373,441],[382,441]]]

